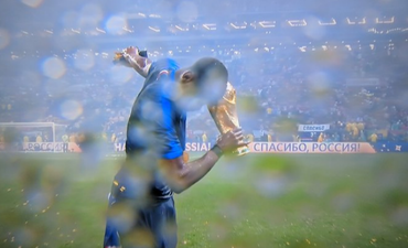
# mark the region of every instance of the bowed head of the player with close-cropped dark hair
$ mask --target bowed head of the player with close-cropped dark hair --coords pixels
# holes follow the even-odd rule
[[[203,57],[195,62],[191,69],[195,74],[200,90],[212,98],[219,100],[225,93],[228,82],[228,71],[225,65],[214,57]]]

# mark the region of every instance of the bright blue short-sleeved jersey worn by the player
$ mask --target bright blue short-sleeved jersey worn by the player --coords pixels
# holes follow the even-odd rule
[[[172,192],[154,170],[157,160],[179,158],[185,149],[185,112],[176,108],[169,94],[174,89],[178,68],[170,58],[151,65],[127,127],[127,157],[135,159],[135,166],[149,158],[153,173],[151,195],[159,198],[170,197]]]

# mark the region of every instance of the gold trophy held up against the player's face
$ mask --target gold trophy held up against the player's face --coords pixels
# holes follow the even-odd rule
[[[236,128],[239,128],[239,120],[236,109],[236,90],[228,82],[226,91],[223,98],[216,104],[208,106],[211,116],[221,133],[226,133]],[[245,155],[249,153],[249,148],[243,145],[233,151],[234,154]]]

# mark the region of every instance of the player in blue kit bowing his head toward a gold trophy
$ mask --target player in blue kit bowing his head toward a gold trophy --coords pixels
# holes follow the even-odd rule
[[[187,162],[186,111],[218,101],[228,73],[215,58],[179,68],[170,58],[152,63],[136,47],[126,65],[146,78],[127,127],[126,162],[109,194],[104,247],[175,248],[173,193],[198,182],[226,151],[247,144],[240,129],[222,134],[202,158]]]

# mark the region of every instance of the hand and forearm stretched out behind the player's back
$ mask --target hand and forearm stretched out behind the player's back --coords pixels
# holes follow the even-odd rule
[[[140,76],[147,77],[152,62],[146,51],[139,51],[138,47],[129,46],[122,52],[116,53],[114,63],[131,67]]]

